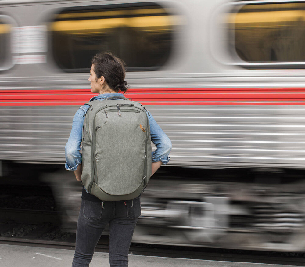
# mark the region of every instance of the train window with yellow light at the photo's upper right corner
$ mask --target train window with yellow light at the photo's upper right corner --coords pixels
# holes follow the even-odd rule
[[[305,2],[255,1],[236,10],[229,14],[229,42],[242,60],[272,68],[305,65]]]

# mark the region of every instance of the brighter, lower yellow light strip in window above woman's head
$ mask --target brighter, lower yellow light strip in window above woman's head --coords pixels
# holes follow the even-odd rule
[[[125,13],[126,14],[126,13]],[[52,23],[52,31],[86,31],[117,27],[165,27],[181,24],[178,16],[145,16],[92,20],[65,20]]]

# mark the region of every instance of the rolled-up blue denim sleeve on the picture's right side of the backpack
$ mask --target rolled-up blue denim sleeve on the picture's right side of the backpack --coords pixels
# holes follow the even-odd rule
[[[151,113],[148,111],[147,114],[149,119],[150,137],[152,143],[154,143],[157,148],[155,151],[152,151],[152,162],[162,161],[165,165],[170,160],[168,155],[172,149],[172,143],[165,132],[163,132],[160,126],[156,123]]]

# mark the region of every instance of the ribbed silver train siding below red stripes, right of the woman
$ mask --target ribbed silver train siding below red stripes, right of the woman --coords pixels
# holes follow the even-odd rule
[[[172,140],[171,164],[305,166],[302,106],[159,106],[150,110]]]

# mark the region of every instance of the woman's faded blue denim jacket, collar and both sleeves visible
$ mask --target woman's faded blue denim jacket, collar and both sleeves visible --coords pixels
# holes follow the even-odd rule
[[[94,96],[90,99],[90,101],[100,99],[105,100],[110,96],[124,96],[120,93],[112,93],[112,94],[102,94],[98,96]],[[111,100],[110,100],[111,101]],[[81,106],[74,115],[72,121],[72,130],[70,133],[70,137],[65,146],[65,155],[66,155],[66,170],[74,171],[77,166],[81,164],[81,141],[82,141],[82,129],[84,124],[84,115],[89,109],[88,105]],[[155,144],[156,150],[152,152],[152,162],[162,161],[163,164],[167,164],[170,160],[168,157],[170,150],[172,148],[172,144],[167,135],[163,132],[160,126],[156,123],[155,119],[152,117],[150,112],[146,112],[147,117],[149,119],[149,127],[150,127],[150,137],[152,143]]]

